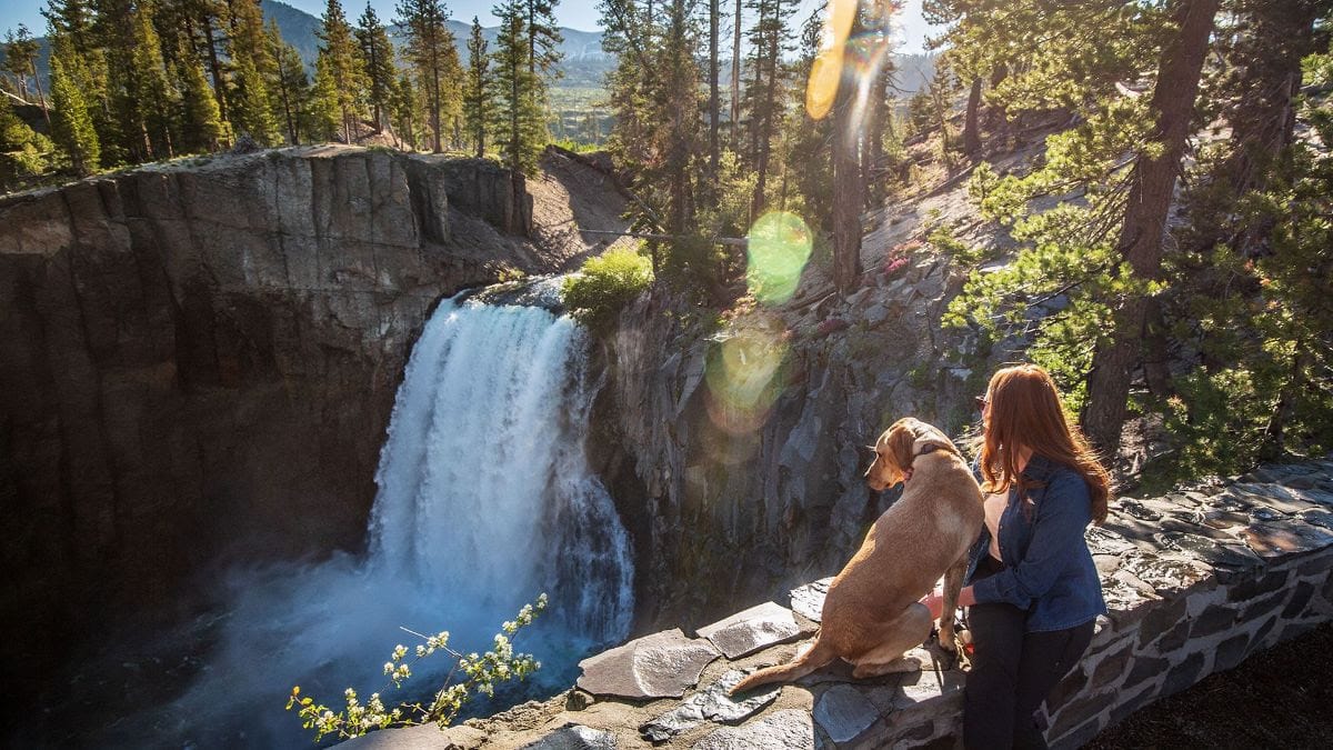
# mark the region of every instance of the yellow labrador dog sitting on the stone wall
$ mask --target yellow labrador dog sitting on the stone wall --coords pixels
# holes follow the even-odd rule
[[[902,498],[833,579],[814,643],[788,665],[746,677],[733,694],[801,678],[838,657],[856,665],[858,678],[917,669],[902,654],[930,637],[930,613],[918,599],[941,575],[940,645],[954,649],[953,611],[984,522],[981,488],[953,442],[912,418],[880,435],[874,454],[865,480],[876,491],[904,482]]]

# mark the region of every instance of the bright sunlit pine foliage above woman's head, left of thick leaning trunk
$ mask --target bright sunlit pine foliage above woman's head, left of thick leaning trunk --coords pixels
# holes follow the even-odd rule
[[[1129,295],[1161,284],[1136,279],[1116,247],[1129,188],[1128,153],[1152,153],[1150,119],[1133,97],[1102,104],[1076,128],[1046,139],[1026,175],[997,175],[980,164],[968,184],[981,215],[1022,243],[998,270],[973,271],[945,315],[949,326],[973,324],[997,340],[1030,343],[1028,356],[1050,371],[1072,414],[1086,399],[1092,355],[1113,330],[1110,311]],[[936,232],[932,243],[952,246]],[[953,247],[976,263],[982,250]]]

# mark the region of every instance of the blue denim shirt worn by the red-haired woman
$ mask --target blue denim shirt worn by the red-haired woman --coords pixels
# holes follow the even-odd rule
[[[1004,570],[972,583],[982,555],[989,554],[990,528],[972,547],[968,575],[978,605],[1008,602],[1028,611],[1028,633],[1065,630],[1106,613],[1101,579],[1084,530],[1092,522],[1088,483],[1074,470],[1032,456],[1022,475],[1040,483],[1028,491],[1032,519],[1024,516],[1018,488],[1000,515],[1000,556]]]

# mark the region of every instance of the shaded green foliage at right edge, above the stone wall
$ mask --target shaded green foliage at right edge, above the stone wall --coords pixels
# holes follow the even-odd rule
[[[1328,61],[1310,57],[1312,77]],[[1306,105],[1302,117],[1321,143],[1333,137],[1333,105]],[[1264,183],[1232,206],[1238,226],[1269,228],[1268,252],[1220,244],[1170,264],[1174,334],[1198,362],[1174,398],[1152,404],[1174,438],[1145,467],[1160,482],[1333,450],[1333,156],[1297,141]]]

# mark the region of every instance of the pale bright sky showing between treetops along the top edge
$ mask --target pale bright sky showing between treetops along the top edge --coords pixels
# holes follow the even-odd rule
[[[316,17],[324,13],[327,4],[325,0],[280,1]],[[355,21],[365,8],[364,3],[365,0],[343,0],[343,9]],[[801,8],[796,19],[804,20],[808,17],[810,8],[817,3],[818,0],[801,0]],[[393,17],[396,0],[371,0],[371,4],[375,5],[375,11],[380,19],[389,20]],[[732,0],[724,0],[722,4],[732,5]],[[33,36],[44,36],[47,33],[47,20],[41,17],[40,12],[44,5],[43,0],[0,0],[0,33],[23,23],[28,25]],[[481,25],[495,25],[495,17],[491,15],[495,0],[445,0],[445,5],[456,20],[471,21],[472,16],[477,16],[481,20]],[[593,31],[597,28],[597,3],[596,0],[563,0],[556,7],[556,17],[561,25]],[[900,49],[902,52],[921,52],[921,43],[929,29],[921,17],[921,0],[906,0],[902,4],[900,20],[902,25],[902,45]]]

